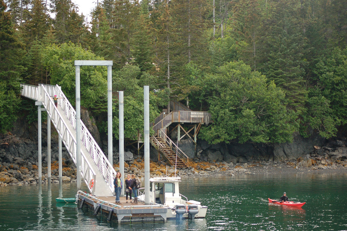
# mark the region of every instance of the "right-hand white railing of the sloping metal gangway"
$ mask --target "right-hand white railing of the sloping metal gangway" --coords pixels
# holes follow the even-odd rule
[[[61,91],[58,85],[56,85],[56,92],[57,96],[59,98],[62,98],[60,99],[59,105],[64,111],[66,117],[69,119],[70,124],[76,129],[75,109],[73,108],[73,106],[71,105],[71,103],[69,102],[65,94]],[[108,161],[104,153],[101,151],[101,148],[99,147],[98,143],[96,143],[93,136],[90,134],[89,130],[84,125],[82,120],[81,133],[81,144],[84,145],[84,147],[88,150],[89,155],[92,157],[93,161],[95,162],[96,166],[98,166],[98,169],[100,170],[102,176],[107,182],[109,189],[113,192],[113,174],[116,176],[117,173],[115,169],[113,169],[113,166],[111,166],[111,163]]]

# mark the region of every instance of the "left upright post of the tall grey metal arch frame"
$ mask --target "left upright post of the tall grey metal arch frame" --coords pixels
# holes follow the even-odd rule
[[[76,69],[76,168],[77,168],[77,190],[81,190],[81,86],[80,86],[80,66]]]

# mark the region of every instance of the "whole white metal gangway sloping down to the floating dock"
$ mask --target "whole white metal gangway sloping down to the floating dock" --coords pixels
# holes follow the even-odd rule
[[[59,138],[76,164],[76,111],[61,91],[61,87],[47,84],[39,86],[20,84],[20,86],[22,96],[37,101],[36,105],[41,104],[47,111]],[[58,99],[58,108],[52,99],[54,95],[61,98]],[[92,195],[113,196],[113,174],[116,175],[116,171],[82,120],[80,164],[81,177]]]

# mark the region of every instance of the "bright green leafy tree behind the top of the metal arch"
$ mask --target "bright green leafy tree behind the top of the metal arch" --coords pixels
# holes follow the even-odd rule
[[[58,84],[72,105],[75,103],[75,60],[103,60],[73,43],[48,46],[43,63],[48,67],[51,84]],[[80,71],[81,106],[90,108],[107,95],[107,68],[83,66]]]

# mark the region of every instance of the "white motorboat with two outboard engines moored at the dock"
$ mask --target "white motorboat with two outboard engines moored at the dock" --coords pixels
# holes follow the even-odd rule
[[[204,218],[208,207],[201,205],[200,202],[195,200],[188,200],[187,197],[181,195],[178,185],[181,181],[180,179],[180,177],[150,178],[150,202],[169,207],[170,209],[168,209],[166,215],[167,219],[177,218],[177,213],[181,213],[182,218],[189,218],[189,214],[194,218]],[[138,192],[138,198],[144,200],[144,188],[139,189]],[[198,211],[191,210],[196,208]]]

